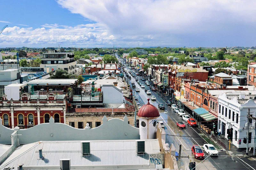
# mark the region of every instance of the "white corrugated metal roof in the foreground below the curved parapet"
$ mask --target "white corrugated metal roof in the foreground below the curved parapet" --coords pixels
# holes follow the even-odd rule
[[[60,159],[70,159],[71,166],[93,165],[147,165],[149,154],[159,153],[157,139],[145,140],[145,154],[137,155],[136,140],[91,141],[91,155],[82,157],[80,141],[42,141],[18,147],[0,167],[59,166]],[[38,149],[43,148],[43,159],[38,159]],[[24,149],[23,149],[24,148]],[[17,154],[19,152],[19,154]],[[10,159],[11,158],[11,159]]]

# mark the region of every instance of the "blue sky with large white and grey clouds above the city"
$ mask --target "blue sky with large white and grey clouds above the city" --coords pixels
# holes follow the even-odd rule
[[[256,46],[256,1],[1,0],[0,47]]]

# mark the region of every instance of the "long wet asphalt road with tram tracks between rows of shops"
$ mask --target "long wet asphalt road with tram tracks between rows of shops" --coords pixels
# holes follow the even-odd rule
[[[125,68],[128,70],[128,68]],[[131,76],[131,74],[129,74]],[[140,76],[137,76],[140,79]],[[135,88],[133,89],[133,94],[135,97],[139,99],[140,105],[143,106],[148,101],[147,99],[150,98],[151,95],[156,96],[156,100],[150,100],[150,104],[156,106],[158,108],[159,103],[163,103],[165,106],[165,110],[159,110],[160,117],[159,120],[162,120],[165,124],[165,131],[166,131],[166,143],[169,145],[173,144],[176,148],[176,151],[179,152],[179,145],[181,144],[182,152],[181,157],[178,160],[179,169],[188,169],[188,163],[190,160],[192,162],[196,162],[196,169],[236,169],[236,170],[256,170],[256,158],[248,159],[244,157],[235,157],[228,155],[225,151],[220,151],[220,147],[215,144],[211,139],[205,136],[198,128],[196,127],[189,127],[186,123],[186,129],[179,129],[176,126],[177,122],[184,122],[182,118],[174,113],[171,107],[167,106],[166,99],[158,95],[157,92],[151,91],[151,95],[147,95],[144,91],[144,88],[141,88],[140,85],[135,81],[135,78],[132,77],[129,80],[129,83],[132,81],[135,82],[136,87],[140,88],[140,92],[135,92]],[[145,85],[145,82],[143,82]],[[145,85],[145,88],[149,88]],[[219,156],[213,157],[209,156],[205,153],[205,159],[197,160],[191,153],[191,147],[193,145],[203,146],[204,144],[213,144],[219,151]],[[199,164],[200,163],[200,164]]]

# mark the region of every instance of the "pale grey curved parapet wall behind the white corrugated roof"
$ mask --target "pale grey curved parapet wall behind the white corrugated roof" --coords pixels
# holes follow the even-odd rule
[[[0,143],[11,144],[13,129],[0,126]],[[103,124],[93,129],[76,129],[63,123],[50,123],[36,125],[29,129],[18,130],[19,143],[30,144],[37,141],[64,141],[64,140],[129,140],[140,139],[139,128],[128,124],[125,115],[124,120],[110,119],[104,116]]]

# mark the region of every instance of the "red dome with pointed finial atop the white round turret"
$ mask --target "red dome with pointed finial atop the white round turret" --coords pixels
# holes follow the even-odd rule
[[[160,116],[158,109],[154,105],[149,104],[149,99],[148,99],[148,104],[140,107],[137,115],[139,117],[148,117],[148,118]]]

